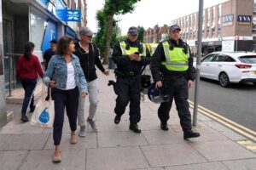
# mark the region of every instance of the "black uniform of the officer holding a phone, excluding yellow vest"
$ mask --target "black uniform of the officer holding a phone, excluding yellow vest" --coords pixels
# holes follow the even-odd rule
[[[141,42],[131,42],[125,40],[126,48],[139,48],[143,54],[143,45]],[[122,55],[119,42],[113,48],[113,62],[117,65],[115,75],[117,77],[116,87],[118,88],[118,97],[114,112],[117,116],[125,113],[125,107],[130,101],[130,125],[137,125],[141,120],[140,113],[140,88],[141,88],[141,71],[144,65],[150,63],[150,53],[147,48],[147,56],[142,57],[141,61],[131,60],[128,55]],[[118,123],[118,122],[117,122]]]

